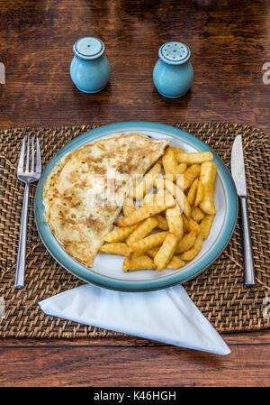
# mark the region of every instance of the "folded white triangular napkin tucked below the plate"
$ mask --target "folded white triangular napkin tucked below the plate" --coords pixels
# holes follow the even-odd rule
[[[157,291],[121,292],[85,284],[39,304],[54,317],[170,345],[214,354],[230,353],[182,285]]]

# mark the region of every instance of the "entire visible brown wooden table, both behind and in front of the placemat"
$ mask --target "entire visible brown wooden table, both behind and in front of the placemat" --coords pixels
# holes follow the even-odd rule
[[[0,128],[145,120],[267,131],[269,12],[262,0],[1,2]],[[112,78],[103,92],[85,95],[73,86],[69,64],[76,39],[91,35],[105,43]],[[175,100],[159,96],[151,77],[159,46],[172,40],[190,46],[195,74],[191,91]],[[268,333],[223,337],[231,349],[225,357],[135,337],[2,339],[0,385],[269,385]]]

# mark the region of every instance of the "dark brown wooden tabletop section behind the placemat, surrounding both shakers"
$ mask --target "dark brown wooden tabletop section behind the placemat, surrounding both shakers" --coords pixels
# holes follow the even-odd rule
[[[147,120],[225,121],[267,129],[270,61],[267,1],[5,0],[0,2],[1,128]],[[103,92],[79,92],[69,77],[72,45],[101,38],[112,65]],[[152,69],[159,46],[192,51],[193,87],[158,95]]]

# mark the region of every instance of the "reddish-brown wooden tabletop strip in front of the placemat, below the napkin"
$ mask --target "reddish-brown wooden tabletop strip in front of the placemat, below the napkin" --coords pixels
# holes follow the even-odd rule
[[[269,385],[266,333],[224,336],[227,356],[136,339],[0,341],[1,386]],[[269,374],[269,373],[268,373]]]

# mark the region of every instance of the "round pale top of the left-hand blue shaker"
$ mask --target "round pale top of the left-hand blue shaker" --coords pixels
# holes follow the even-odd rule
[[[94,37],[85,37],[77,40],[73,45],[73,52],[82,60],[94,60],[102,56],[105,51],[103,41]]]

